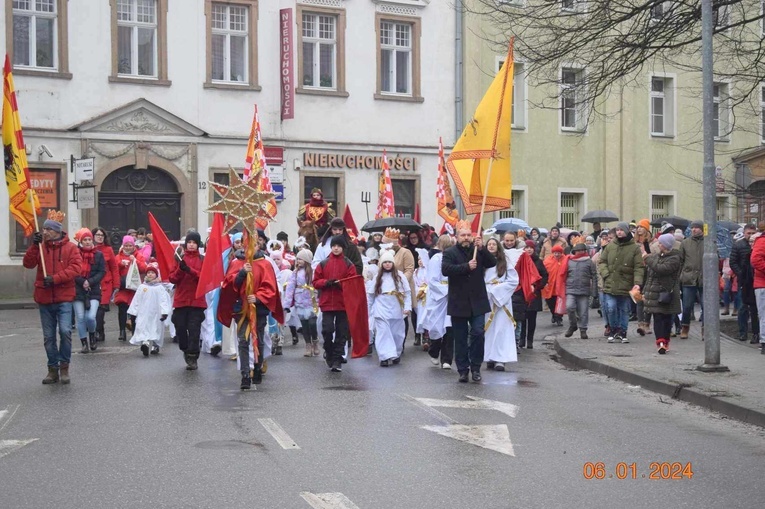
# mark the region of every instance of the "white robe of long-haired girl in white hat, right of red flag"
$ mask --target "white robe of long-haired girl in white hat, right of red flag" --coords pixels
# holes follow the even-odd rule
[[[374,312],[375,350],[381,361],[401,357],[404,351],[404,311],[412,310],[412,291],[404,273],[398,271],[398,276],[400,281],[396,287],[393,275],[383,274],[380,295],[374,293],[376,281],[367,284],[367,301],[372,303]],[[386,295],[391,291],[403,294],[403,307],[396,295]]]

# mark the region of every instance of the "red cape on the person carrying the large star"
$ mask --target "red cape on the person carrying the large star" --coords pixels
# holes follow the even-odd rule
[[[232,260],[226,273],[226,279],[221,286],[217,318],[226,327],[231,325],[234,303],[238,299],[241,299],[243,303],[247,302],[246,284],[243,283],[239,290],[234,288],[236,275],[244,267],[244,264],[244,260]],[[274,274],[271,263],[265,258],[252,261],[252,288],[258,302],[266,305],[277,322],[284,323],[284,309],[282,309],[282,299],[279,296],[276,274]]]

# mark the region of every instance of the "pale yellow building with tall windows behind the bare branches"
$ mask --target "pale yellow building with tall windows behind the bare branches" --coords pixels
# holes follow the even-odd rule
[[[506,49],[486,41],[497,36],[487,19],[465,13],[463,20],[463,115],[470,118]],[[700,75],[646,68],[637,85],[612,92],[605,118],[585,126],[582,112],[570,107],[573,98],[567,96],[576,92],[564,91],[557,105],[551,104],[548,98],[558,91],[535,87],[526,67],[516,55],[513,207],[495,213],[485,225],[512,216],[533,226],[549,228],[560,222],[587,230],[591,225],[580,217],[593,209],[612,210],[624,220],[702,216]],[[559,86],[576,83],[586,72],[575,63],[560,69]],[[720,219],[751,222],[762,217],[765,203],[760,203],[757,182],[765,178],[765,151],[759,148],[765,138],[760,118],[765,86],[756,93],[762,97],[752,102],[760,108],[749,114],[737,109],[731,129],[729,98],[737,94],[736,83],[715,83]],[[537,106],[545,101],[545,108]]]

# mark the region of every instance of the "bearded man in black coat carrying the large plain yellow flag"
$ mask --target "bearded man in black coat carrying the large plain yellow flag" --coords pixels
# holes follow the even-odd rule
[[[446,312],[452,318],[455,360],[462,383],[468,381],[468,370],[473,372],[474,382],[481,381],[484,322],[486,313],[491,311],[484,271],[496,264],[494,256],[483,247],[481,237],[473,240],[470,223],[459,221],[457,245],[444,251],[441,273],[449,278]]]

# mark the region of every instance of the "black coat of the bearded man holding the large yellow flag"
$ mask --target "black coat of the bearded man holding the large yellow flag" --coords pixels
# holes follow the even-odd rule
[[[470,270],[468,266],[472,259],[472,245],[468,249],[452,246],[444,251],[441,273],[449,278],[449,302],[446,306],[449,316],[470,318],[491,311],[484,272],[497,265],[497,260],[485,247],[478,250],[475,270]]]

